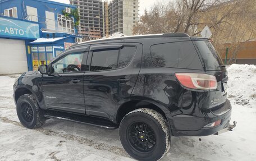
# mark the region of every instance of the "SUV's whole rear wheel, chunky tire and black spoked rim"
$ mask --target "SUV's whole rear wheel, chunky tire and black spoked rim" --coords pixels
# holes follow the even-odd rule
[[[152,109],[128,113],[121,121],[119,136],[126,152],[138,160],[159,160],[170,148],[167,120]]]

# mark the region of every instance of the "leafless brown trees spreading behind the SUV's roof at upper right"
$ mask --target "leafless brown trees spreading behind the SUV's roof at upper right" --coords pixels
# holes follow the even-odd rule
[[[229,44],[230,62],[237,58],[243,43],[256,38],[255,0],[173,0],[156,3],[140,17],[134,34],[188,33],[200,36],[205,25],[213,43],[224,51]]]

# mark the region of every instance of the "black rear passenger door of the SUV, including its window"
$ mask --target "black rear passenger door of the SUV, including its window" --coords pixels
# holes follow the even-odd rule
[[[129,99],[140,70],[142,45],[101,44],[90,47],[84,74],[86,114],[115,119],[117,108]]]

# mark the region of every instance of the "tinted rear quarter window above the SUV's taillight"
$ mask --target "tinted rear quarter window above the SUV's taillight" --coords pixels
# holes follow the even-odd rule
[[[191,41],[152,45],[150,54],[153,64],[159,67],[203,69]]]

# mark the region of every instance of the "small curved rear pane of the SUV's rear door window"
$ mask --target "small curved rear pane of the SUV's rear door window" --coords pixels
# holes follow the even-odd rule
[[[123,47],[120,52],[118,67],[125,67],[130,62],[136,52],[136,47]]]

